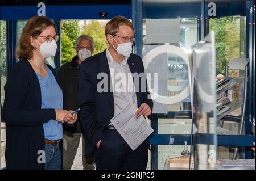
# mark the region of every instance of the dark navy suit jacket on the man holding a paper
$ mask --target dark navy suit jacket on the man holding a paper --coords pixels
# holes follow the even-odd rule
[[[143,73],[144,66],[141,57],[131,54],[127,63],[131,73]],[[110,71],[106,52],[92,56],[82,62],[79,75],[79,113],[82,128],[86,135],[86,155],[93,155],[96,150],[96,144],[102,138],[104,129],[108,127],[110,119],[114,116],[114,97],[113,92],[98,92],[97,84],[102,81],[103,77],[98,77],[100,73],[108,75],[108,79],[102,88],[110,90]],[[106,80],[106,79],[104,79]],[[143,84],[143,85],[142,85]],[[108,87],[104,87],[108,86]],[[137,101],[139,104],[146,103],[151,110],[153,102],[148,99],[149,93],[146,82],[139,81],[139,90],[136,90]],[[135,86],[136,89],[136,86]],[[149,147],[149,141],[147,140]]]

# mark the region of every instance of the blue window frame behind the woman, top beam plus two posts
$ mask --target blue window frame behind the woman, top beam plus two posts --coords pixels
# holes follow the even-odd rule
[[[26,6],[0,6],[0,20],[7,20],[7,60],[9,75],[11,68],[17,62],[15,57],[17,20],[28,20],[37,15],[39,7],[37,5]],[[122,15],[131,19],[131,4],[114,5],[46,5],[46,16],[53,19],[57,28],[58,35],[61,35],[61,20],[72,19],[101,19],[99,12],[108,12],[108,19]],[[60,36],[61,37],[61,36]],[[59,41],[58,45],[60,47]],[[61,50],[57,49],[55,56],[56,70],[61,65]]]

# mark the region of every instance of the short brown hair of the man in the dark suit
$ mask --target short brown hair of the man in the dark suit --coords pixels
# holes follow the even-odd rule
[[[105,35],[115,35],[118,32],[120,25],[129,26],[131,29],[134,30],[133,24],[130,22],[129,19],[123,16],[115,16],[112,18],[105,26]]]

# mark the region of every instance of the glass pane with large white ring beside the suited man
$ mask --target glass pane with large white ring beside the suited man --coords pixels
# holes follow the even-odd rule
[[[191,134],[189,66],[200,15],[200,2],[143,1],[143,63],[152,74],[147,81],[155,95],[153,113],[162,117],[152,120],[157,121],[158,134]],[[164,169],[166,159],[179,157],[184,145],[155,146],[158,167],[153,169]]]

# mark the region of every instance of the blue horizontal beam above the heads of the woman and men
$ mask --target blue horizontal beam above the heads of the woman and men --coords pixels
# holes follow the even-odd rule
[[[28,20],[36,16],[39,7],[0,6],[0,20]],[[131,5],[47,5],[49,19],[100,19],[99,12],[108,12],[108,19],[117,15],[131,19]]]

